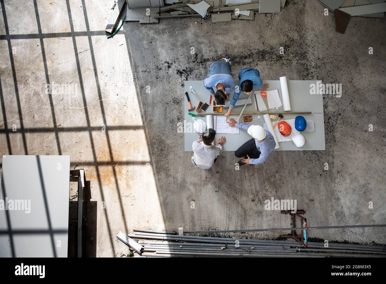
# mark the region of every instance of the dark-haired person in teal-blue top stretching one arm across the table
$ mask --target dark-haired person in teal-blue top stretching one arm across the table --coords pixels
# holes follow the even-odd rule
[[[262,91],[265,91],[267,88],[269,88],[268,83],[263,84],[263,81],[260,79],[260,72],[257,69],[244,68],[239,72],[239,80],[239,85],[237,85],[235,94],[230,101],[228,112],[224,114],[224,116],[227,118],[230,116],[230,112],[235,107],[241,92],[244,92],[247,95],[251,95],[253,88],[259,88]]]

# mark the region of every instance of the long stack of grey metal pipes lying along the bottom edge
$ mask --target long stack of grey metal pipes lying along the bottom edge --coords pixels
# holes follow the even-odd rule
[[[134,229],[130,238],[144,247],[145,257],[386,257],[386,247],[346,243],[309,242],[307,248],[296,241],[237,239],[177,235]],[[145,239],[145,240],[144,240]]]

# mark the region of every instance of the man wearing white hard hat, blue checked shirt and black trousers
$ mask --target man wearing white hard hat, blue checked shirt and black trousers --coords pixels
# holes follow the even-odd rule
[[[241,158],[239,165],[244,164],[258,165],[264,163],[269,154],[275,149],[276,142],[271,132],[259,125],[249,125],[246,123],[237,123],[234,119],[227,121],[229,126],[242,128],[248,131],[252,139],[245,142],[235,151],[235,156]]]

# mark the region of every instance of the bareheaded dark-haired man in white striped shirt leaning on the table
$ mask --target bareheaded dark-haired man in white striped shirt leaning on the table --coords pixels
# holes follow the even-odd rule
[[[213,128],[208,129],[208,133],[204,133],[198,140],[193,142],[193,157],[192,163],[199,168],[212,168],[220,155],[222,144],[225,143],[225,137],[218,138],[217,145],[212,143],[215,141],[216,131]]]

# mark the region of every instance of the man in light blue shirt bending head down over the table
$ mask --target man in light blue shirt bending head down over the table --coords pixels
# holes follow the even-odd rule
[[[218,105],[224,105],[229,99],[229,94],[236,85],[233,78],[230,64],[227,62],[216,61],[210,65],[208,76],[204,79],[204,87],[214,95],[214,100]],[[216,88],[216,92],[213,90]]]

